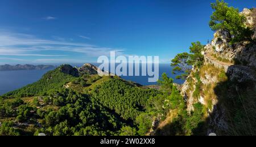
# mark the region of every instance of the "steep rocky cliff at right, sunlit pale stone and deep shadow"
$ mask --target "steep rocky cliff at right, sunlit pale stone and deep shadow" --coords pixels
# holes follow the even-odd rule
[[[256,10],[245,9],[246,25],[254,28]],[[256,33],[256,31],[255,31]],[[256,116],[256,44],[230,45],[231,35],[217,31],[205,46],[204,65],[193,69],[181,94],[189,112],[200,102],[207,109],[207,133],[253,135]],[[255,34],[254,34],[255,37]],[[251,115],[253,114],[253,115]]]

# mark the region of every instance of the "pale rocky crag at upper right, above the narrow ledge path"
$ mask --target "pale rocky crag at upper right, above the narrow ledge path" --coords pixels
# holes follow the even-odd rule
[[[241,14],[247,18],[247,27],[253,28],[254,40],[256,39],[256,9],[245,8]],[[214,33],[212,42],[205,48],[208,53],[216,53],[218,57],[230,62],[240,62],[246,66],[256,67],[256,45],[245,41],[240,44],[230,45],[231,35],[228,31],[220,30]]]

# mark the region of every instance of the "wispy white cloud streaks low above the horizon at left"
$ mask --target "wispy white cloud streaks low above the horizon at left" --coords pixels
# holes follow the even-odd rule
[[[48,40],[38,38],[31,34],[0,32],[0,59],[12,59],[11,57],[33,57],[34,60],[40,61],[38,57],[55,57],[53,62],[63,61],[64,58],[72,59],[70,53],[79,53],[85,58],[95,58],[101,55],[109,56],[110,51],[116,51],[117,54],[123,54],[123,49],[113,47],[101,47],[96,45],[85,44],[82,42],[73,42],[65,40]],[[18,58],[15,58],[18,60]],[[14,59],[14,58],[13,58]],[[22,59],[20,59],[22,60]],[[50,62],[51,59],[42,59]]]

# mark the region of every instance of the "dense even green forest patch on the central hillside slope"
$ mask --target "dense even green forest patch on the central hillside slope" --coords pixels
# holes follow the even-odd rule
[[[106,81],[92,91],[95,101],[114,110],[123,119],[135,118],[144,111],[147,100],[155,96],[156,90],[142,89],[129,85],[118,78]]]

